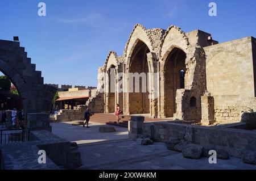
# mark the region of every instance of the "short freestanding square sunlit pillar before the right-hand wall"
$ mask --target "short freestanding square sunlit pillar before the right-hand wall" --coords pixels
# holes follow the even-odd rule
[[[215,122],[214,116],[214,98],[210,95],[201,96],[201,110],[203,125],[211,125]]]

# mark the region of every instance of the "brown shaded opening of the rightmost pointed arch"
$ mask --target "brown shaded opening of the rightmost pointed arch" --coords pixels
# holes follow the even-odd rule
[[[174,48],[168,55],[165,64],[165,111],[166,117],[173,117],[176,112],[177,89],[185,88],[186,54],[179,48]]]

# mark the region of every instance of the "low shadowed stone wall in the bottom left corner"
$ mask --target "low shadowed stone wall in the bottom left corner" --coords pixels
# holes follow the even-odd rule
[[[80,152],[69,141],[51,132],[31,131],[30,140],[19,144],[0,145],[1,169],[60,169],[59,166],[75,169],[82,165]],[[46,151],[46,164],[38,163],[39,150]]]

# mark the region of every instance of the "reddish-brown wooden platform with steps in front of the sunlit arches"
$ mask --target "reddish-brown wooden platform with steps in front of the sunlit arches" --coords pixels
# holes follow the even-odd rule
[[[131,116],[133,115],[120,115],[120,121],[119,124],[117,124],[115,120],[115,115],[114,113],[95,113],[90,117],[90,121],[95,122],[95,123],[102,123],[102,124],[108,124],[108,125],[115,125],[119,127],[128,127],[128,121],[130,121]],[[134,115],[138,116],[138,115]],[[143,116],[143,115],[142,115]],[[152,121],[163,121],[167,119],[152,119],[150,117],[144,116],[145,117],[145,122],[152,122]],[[170,119],[168,119],[170,120]]]

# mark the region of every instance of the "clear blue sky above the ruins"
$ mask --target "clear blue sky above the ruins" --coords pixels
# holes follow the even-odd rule
[[[46,16],[38,16],[45,2]],[[209,16],[209,3],[217,16]],[[254,0],[1,0],[0,39],[19,36],[45,83],[97,86],[109,50],[121,55],[136,23],[185,32],[203,30],[220,42],[256,37]]]

